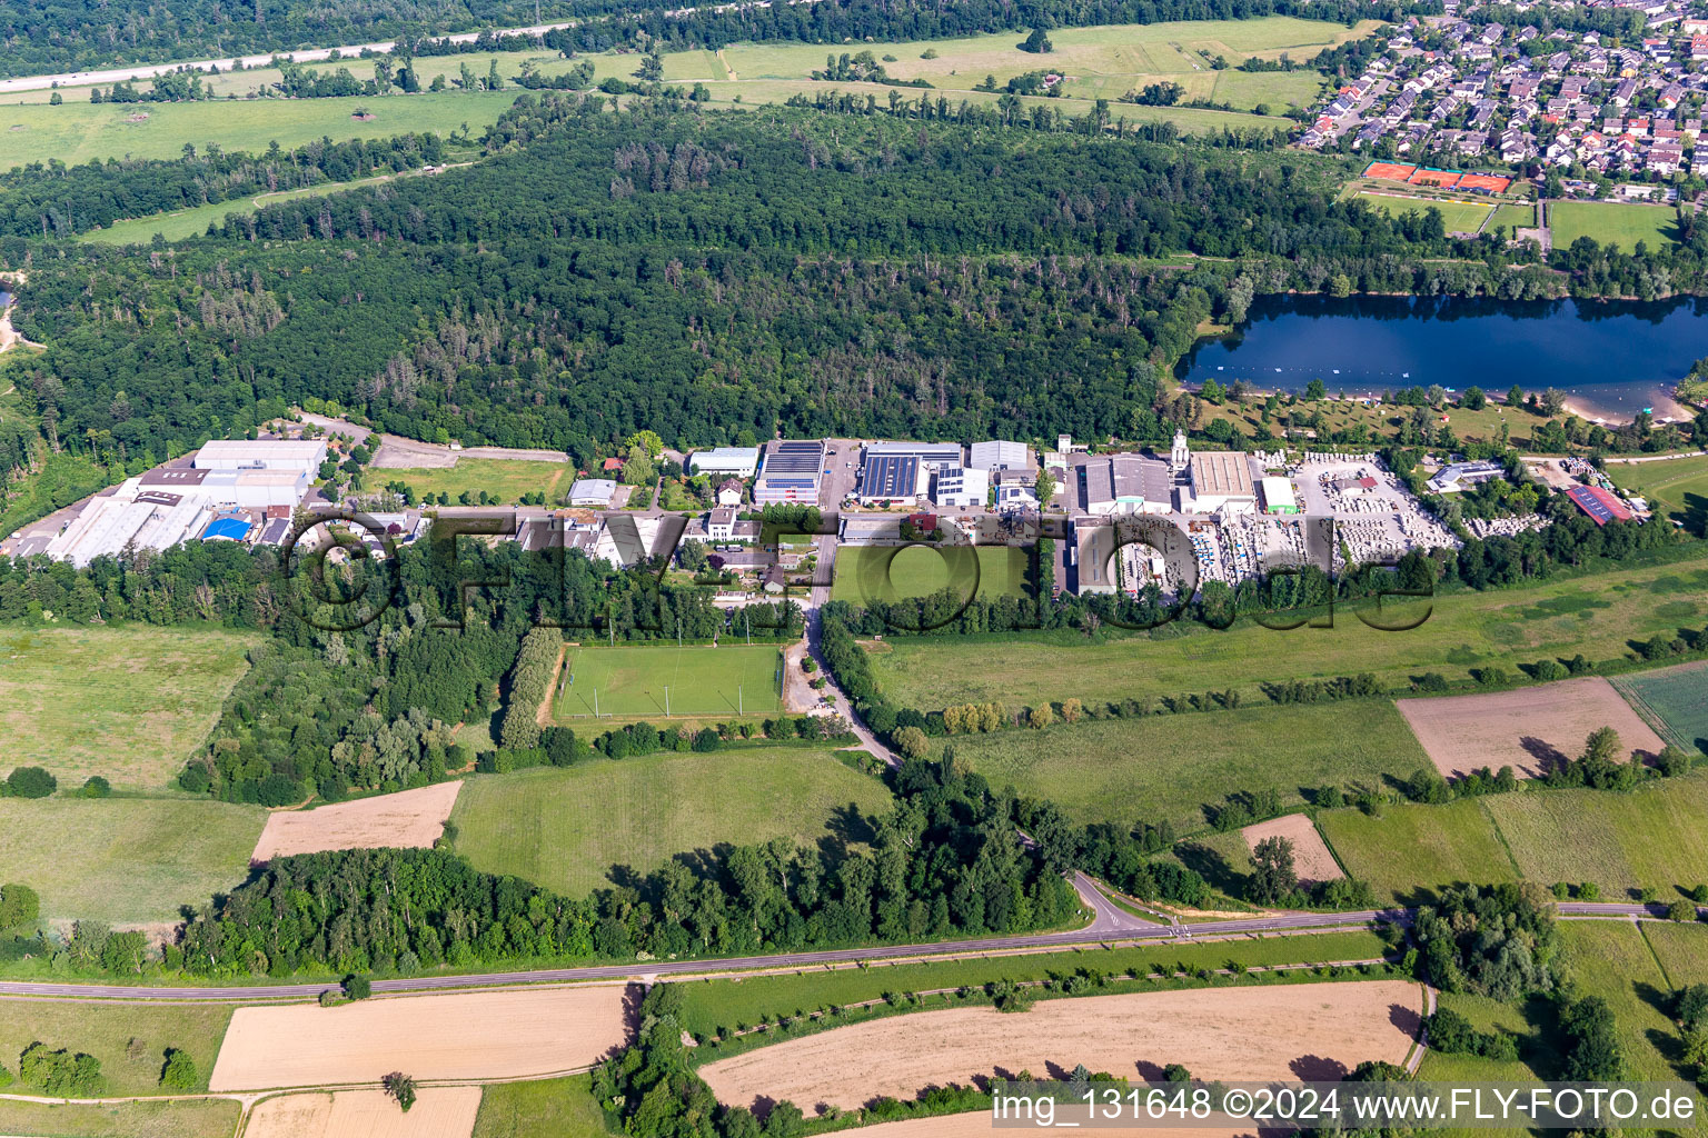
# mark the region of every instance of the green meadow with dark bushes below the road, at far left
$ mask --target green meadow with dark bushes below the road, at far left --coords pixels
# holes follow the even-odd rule
[[[205,1090],[231,1007],[217,1003],[109,1003],[101,1000],[0,1000],[0,1066],[17,1075],[17,1056],[32,1042],[101,1060],[106,1095],[162,1094],[167,1048],[195,1060]],[[14,1092],[31,1094],[24,1083]],[[36,1092],[39,1094],[39,1092]]]

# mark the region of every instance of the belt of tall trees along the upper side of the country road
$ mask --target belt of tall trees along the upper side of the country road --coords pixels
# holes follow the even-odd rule
[[[584,899],[480,874],[442,848],[275,858],[198,913],[166,964],[203,976],[410,974],[1020,933],[1078,913],[980,776],[917,764],[898,773],[895,792],[888,816],[866,819],[869,848],[830,855],[777,839],[719,851],[699,872],[671,862]]]

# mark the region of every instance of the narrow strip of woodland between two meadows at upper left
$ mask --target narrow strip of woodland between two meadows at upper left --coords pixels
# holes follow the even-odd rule
[[[273,143],[258,155],[219,147],[198,154],[186,145],[181,159],[92,159],[70,167],[50,159],[0,174],[0,234],[70,237],[125,218],[418,169],[444,157],[439,135],[422,133],[321,138],[294,150]]]

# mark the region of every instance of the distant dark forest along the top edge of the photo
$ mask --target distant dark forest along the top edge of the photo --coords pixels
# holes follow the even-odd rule
[[[738,39],[933,39],[1018,29],[1088,24],[1298,15],[1346,20],[1394,19],[1402,12],[1440,12],[1438,0],[1353,3],[1351,0],[1038,0],[1021,7],[965,0],[953,7],[905,0],[820,0],[818,3],[736,3],[695,9],[659,0],[3,0],[0,77],[91,70],[123,63],[256,55],[297,48],[335,48],[401,39],[418,55],[451,51],[432,43],[441,32],[576,20],[552,32],[552,46],[603,51],[646,41],[717,48]],[[482,43],[480,49],[490,46]]]

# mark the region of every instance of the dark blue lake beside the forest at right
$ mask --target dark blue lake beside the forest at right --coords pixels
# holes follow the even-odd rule
[[[1331,394],[1440,384],[1558,387],[1585,416],[1688,416],[1672,386],[1708,357],[1708,299],[1652,304],[1430,297],[1261,297],[1245,324],[1180,362],[1190,382]]]

